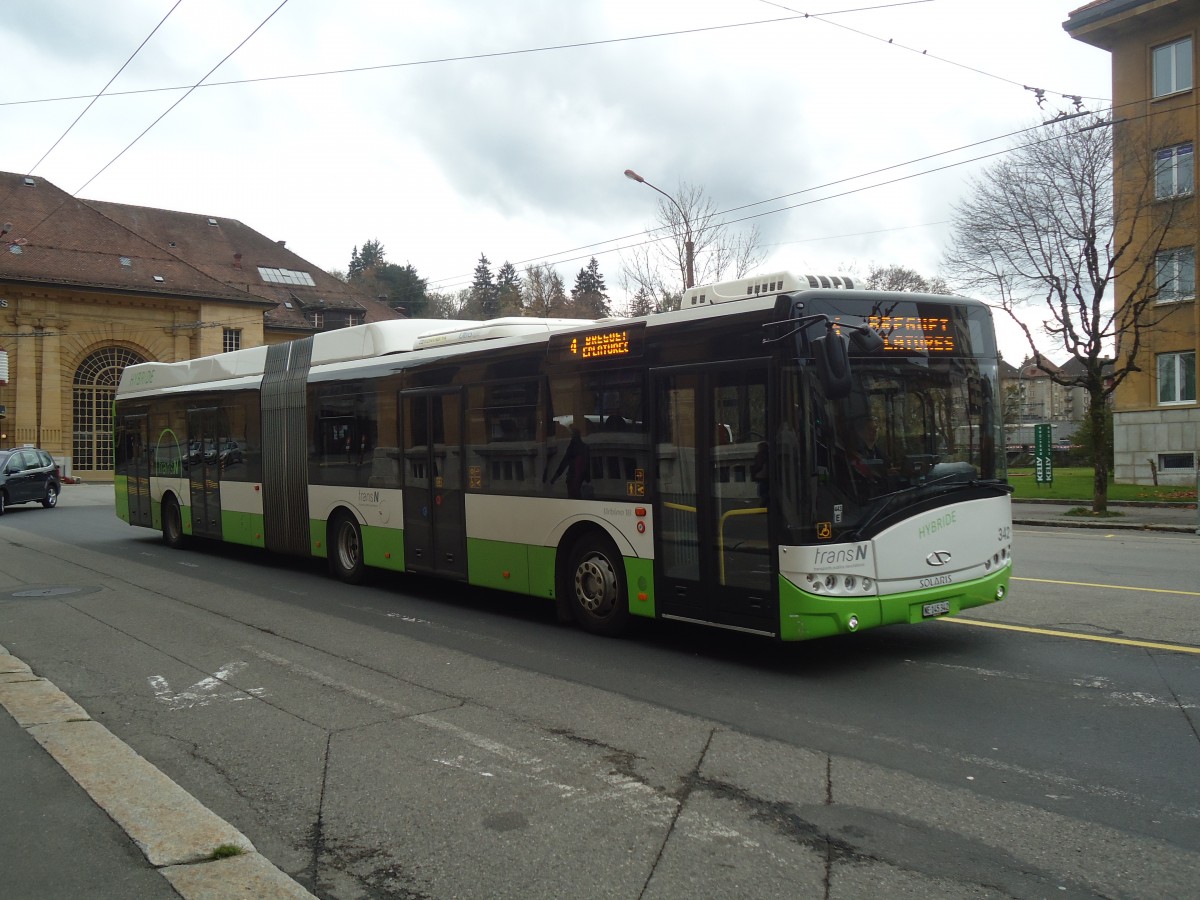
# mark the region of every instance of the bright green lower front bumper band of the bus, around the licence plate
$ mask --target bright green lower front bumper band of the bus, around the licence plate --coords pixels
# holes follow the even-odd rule
[[[995,602],[996,592],[1008,592],[1012,569],[1002,569],[974,581],[925,590],[911,590],[889,596],[864,595],[820,596],[800,590],[786,578],[779,580],[780,637],[784,641],[808,641],[814,637],[850,634],[850,617],[858,618],[856,631],[876,625],[896,625],[923,622],[920,607],[937,600],[948,600],[948,616],[974,606]]]

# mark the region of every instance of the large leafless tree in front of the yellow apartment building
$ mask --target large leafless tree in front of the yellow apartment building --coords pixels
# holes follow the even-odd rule
[[[1164,136],[1151,134],[1140,120],[1118,127],[1114,134],[1109,121],[1062,116],[1014,146],[955,205],[944,258],[958,287],[998,298],[1024,331],[1034,365],[1055,383],[1087,392],[1088,424],[1099,442],[1094,514],[1108,511],[1109,400],[1140,371],[1148,331],[1178,308],[1158,304],[1172,288],[1157,274],[1156,258],[1172,232],[1194,221],[1183,202],[1154,196],[1154,154],[1147,148],[1160,146],[1156,140]],[[1135,186],[1121,197],[1112,191],[1114,160]],[[1078,359],[1082,365],[1070,367],[1078,374],[1043,366],[1044,347]]]

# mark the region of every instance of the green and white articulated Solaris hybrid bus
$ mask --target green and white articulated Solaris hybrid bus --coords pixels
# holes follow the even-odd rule
[[[798,641],[1004,596],[991,313],[776,272],[640,318],[396,320],[121,376],[116,514]],[[859,426],[877,431],[864,454]]]

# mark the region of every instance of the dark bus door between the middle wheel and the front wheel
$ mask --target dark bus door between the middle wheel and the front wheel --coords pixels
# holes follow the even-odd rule
[[[401,394],[404,455],[404,566],[467,577],[462,392]]]

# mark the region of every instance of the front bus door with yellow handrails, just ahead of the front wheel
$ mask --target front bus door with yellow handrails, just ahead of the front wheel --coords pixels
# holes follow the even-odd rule
[[[767,366],[653,373],[655,601],[665,618],[775,635]]]

